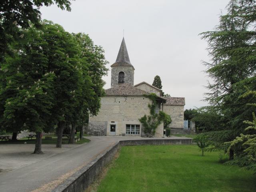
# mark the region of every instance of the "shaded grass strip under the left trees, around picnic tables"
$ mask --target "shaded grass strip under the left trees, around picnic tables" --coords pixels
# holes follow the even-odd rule
[[[45,139],[45,136],[42,137],[42,144],[56,144],[57,143],[57,136],[56,135],[46,135],[46,136],[51,136],[52,139]],[[84,136],[88,136],[87,134],[84,134]],[[76,138],[79,138],[79,132],[76,134]],[[17,141],[0,141],[0,144],[23,144],[24,142],[27,142],[27,144],[35,144],[36,143],[36,138],[33,137],[32,139],[30,138],[28,140],[27,137],[21,138]],[[75,144],[83,144],[90,142],[89,139],[83,138],[80,141],[77,141]],[[64,137],[62,138],[62,144],[68,144],[68,138]]]

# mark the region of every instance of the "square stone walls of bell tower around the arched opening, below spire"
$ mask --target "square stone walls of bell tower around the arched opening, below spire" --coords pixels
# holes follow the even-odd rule
[[[124,72],[124,82],[134,85],[134,70],[132,67],[112,67],[111,69],[111,87],[118,85],[118,74]]]

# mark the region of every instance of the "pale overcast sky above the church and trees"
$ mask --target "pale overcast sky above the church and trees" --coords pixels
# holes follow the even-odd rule
[[[185,109],[208,105],[207,42],[202,32],[214,30],[229,0],[76,0],[71,12],[56,5],[42,7],[42,19],[58,23],[68,32],[89,34],[105,50],[109,64],[104,76],[110,88],[111,68],[123,38],[135,68],[134,84],[153,83],[160,76],[162,90],[185,97]]]

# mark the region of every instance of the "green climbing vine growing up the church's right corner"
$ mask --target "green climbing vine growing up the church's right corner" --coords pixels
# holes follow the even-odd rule
[[[172,120],[170,116],[162,111],[156,113],[157,105],[157,98],[156,94],[151,93],[149,95],[145,95],[145,97],[149,98],[152,101],[152,104],[148,104],[148,108],[150,109],[150,115],[144,115],[139,121],[144,126],[144,133],[148,137],[154,136],[156,132],[156,128],[161,124],[164,123],[164,126],[168,126]]]

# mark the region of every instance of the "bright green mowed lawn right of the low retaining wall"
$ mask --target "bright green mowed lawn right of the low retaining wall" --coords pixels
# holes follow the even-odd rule
[[[195,145],[125,146],[98,192],[255,192],[256,176]]]

